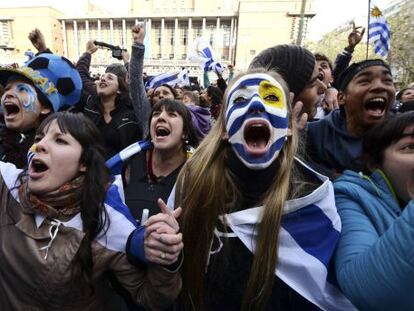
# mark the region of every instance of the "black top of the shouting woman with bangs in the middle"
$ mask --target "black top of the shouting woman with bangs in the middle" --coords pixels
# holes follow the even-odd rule
[[[159,177],[156,181],[148,178],[146,153],[140,153],[132,157],[127,165],[130,168],[129,182],[125,186],[125,202],[132,215],[140,224],[142,211],[148,209],[148,217],[158,214],[160,208],[157,199],[161,198],[164,202],[171,193],[182,165],[165,177]]]

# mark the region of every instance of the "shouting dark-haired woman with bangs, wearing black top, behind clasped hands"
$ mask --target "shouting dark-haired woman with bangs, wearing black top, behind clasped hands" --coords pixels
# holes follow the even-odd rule
[[[125,166],[125,201],[138,223],[159,212],[157,199],[167,201],[188,148],[198,145],[190,111],[179,101],[160,100],[149,124],[153,148]]]

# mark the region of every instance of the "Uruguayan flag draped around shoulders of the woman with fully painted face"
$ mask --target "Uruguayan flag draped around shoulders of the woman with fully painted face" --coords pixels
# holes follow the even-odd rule
[[[275,274],[297,293],[323,310],[356,310],[342,292],[328,281],[328,265],[341,232],[332,183],[296,159],[322,184],[309,195],[286,202],[279,231],[279,254]],[[174,206],[175,187],[168,199]],[[185,206],[184,206],[185,208]],[[220,219],[233,233],[215,230],[217,238],[239,238],[255,252],[257,224],[263,206],[226,214]]]

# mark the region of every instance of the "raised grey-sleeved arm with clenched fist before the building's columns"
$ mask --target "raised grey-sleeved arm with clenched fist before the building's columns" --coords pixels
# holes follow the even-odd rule
[[[148,120],[151,112],[151,105],[147,98],[144,87],[144,38],[145,25],[135,25],[132,27],[133,44],[131,50],[131,61],[129,63],[129,85],[132,99],[132,106],[136,119],[141,126],[143,137],[148,134]]]

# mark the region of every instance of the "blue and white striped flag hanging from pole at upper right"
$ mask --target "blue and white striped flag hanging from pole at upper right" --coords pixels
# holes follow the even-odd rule
[[[370,43],[374,43],[375,54],[382,57],[388,55],[391,43],[391,32],[385,17],[378,7],[374,7],[371,10],[368,40]]]

